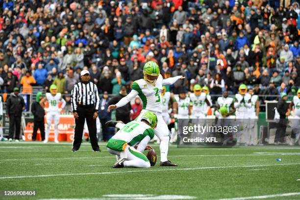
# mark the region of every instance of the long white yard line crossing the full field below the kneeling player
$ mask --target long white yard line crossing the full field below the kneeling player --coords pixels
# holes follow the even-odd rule
[[[24,175],[24,176],[4,176],[0,179],[14,179],[14,178],[37,178],[37,177],[51,177],[51,176],[74,176],[74,175],[110,175],[122,173],[137,173],[137,172],[160,172],[160,171],[185,171],[185,170],[206,170],[206,169],[227,169],[227,168],[248,168],[248,167],[267,167],[267,166],[284,166],[284,165],[300,165],[300,163],[287,164],[270,164],[270,165],[246,165],[246,166],[219,166],[219,167],[196,167],[196,168],[169,168],[157,170],[134,170],[134,171],[116,171],[116,172],[100,172],[100,173],[79,173],[79,174],[56,174],[56,175]]]

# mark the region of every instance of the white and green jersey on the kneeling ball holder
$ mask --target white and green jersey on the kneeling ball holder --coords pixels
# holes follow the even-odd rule
[[[123,140],[130,146],[133,146],[141,142],[147,135],[150,139],[154,137],[154,131],[149,125],[140,121],[132,121],[112,136],[112,139]]]

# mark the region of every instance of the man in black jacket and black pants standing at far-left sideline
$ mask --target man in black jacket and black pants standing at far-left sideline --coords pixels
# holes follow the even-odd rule
[[[19,88],[14,88],[14,93],[6,101],[6,115],[9,118],[9,135],[8,141],[12,141],[15,134],[15,141],[19,142],[21,130],[22,112],[25,110],[23,97],[19,95]]]

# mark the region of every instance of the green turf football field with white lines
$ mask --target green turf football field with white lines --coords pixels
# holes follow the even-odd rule
[[[178,167],[113,169],[104,143],[0,143],[0,199],[248,200],[300,199],[300,147],[177,148]],[[281,161],[276,161],[281,158]],[[35,196],[4,196],[4,191]]]

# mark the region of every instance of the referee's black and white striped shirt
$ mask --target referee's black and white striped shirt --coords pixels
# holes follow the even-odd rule
[[[92,82],[75,84],[71,93],[71,105],[73,112],[77,110],[78,105],[95,104],[95,110],[99,110],[99,94],[96,84]]]

